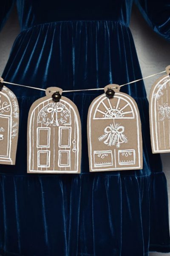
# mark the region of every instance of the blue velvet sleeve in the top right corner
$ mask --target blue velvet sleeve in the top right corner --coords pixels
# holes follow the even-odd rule
[[[153,30],[170,41],[170,0],[134,0]]]

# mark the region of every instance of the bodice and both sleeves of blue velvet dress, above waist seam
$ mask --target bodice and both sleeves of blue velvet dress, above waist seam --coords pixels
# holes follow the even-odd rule
[[[155,32],[170,40],[169,0],[1,0],[0,30],[17,3],[21,31],[64,20],[112,20],[129,26],[132,4]]]

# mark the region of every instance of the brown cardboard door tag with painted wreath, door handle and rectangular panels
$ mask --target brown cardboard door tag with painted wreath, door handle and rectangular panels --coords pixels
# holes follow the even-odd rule
[[[28,115],[28,173],[80,173],[81,123],[76,105],[68,98],[52,99],[62,89],[49,87]]]

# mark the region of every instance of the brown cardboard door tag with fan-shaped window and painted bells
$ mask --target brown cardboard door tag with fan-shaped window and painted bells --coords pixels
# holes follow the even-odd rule
[[[98,96],[88,110],[90,172],[142,169],[142,133],[136,102],[113,88],[112,98]]]

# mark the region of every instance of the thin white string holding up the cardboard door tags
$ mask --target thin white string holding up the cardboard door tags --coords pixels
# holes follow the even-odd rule
[[[134,80],[134,81],[131,81],[127,84],[132,84],[132,83],[135,83],[135,82],[138,82],[138,81],[141,81],[141,80],[144,80],[146,78],[149,78],[151,76],[156,76],[156,75],[159,75],[161,73],[165,73],[166,70],[162,71],[162,72],[159,72],[159,73],[156,73],[156,74],[153,74],[153,75],[150,75],[150,76],[145,76],[141,79],[137,79],[137,80]],[[41,88],[37,88],[37,87],[32,87],[32,86],[27,86],[27,85],[23,85],[23,84],[14,84],[14,83],[11,83],[11,82],[7,82],[7,81],[3,81],[4,84],[13,84],[13,85],[18,85],[18,86],[22,86],[22,87],[28,87],[28,88],[31,88],[31,89],[36,89],[36,90],[43,90],[45,91],[46,89],[41,89]],[[120,87],[124,86],[124,85],[127,85],[127,84],[121,84]],[[116,87],[112,87],[112,89],[114,89]],[[79,92],[79,91],[89,91],[89,90],[104,90],[104,88],[93,88],[93,89],[79,89],[79,90],[63,90],[62,92],[63,93],[69,93],[69,92]]]

